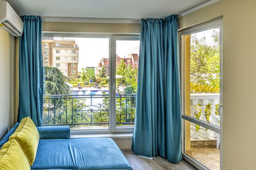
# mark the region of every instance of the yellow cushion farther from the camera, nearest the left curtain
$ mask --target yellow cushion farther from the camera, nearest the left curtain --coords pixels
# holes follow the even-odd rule
[[[16,139],[28,158],[28,162],[33,166],[36,158],[36,150],[39,142],[39,133],[31,118],[26,117],[20,121],[15,132],[10,136],[10,139]]]

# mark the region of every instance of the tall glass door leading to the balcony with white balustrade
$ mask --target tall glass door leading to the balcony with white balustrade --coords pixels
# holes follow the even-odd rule
[[[179,32],[183,156],[198,169],[221,167],[221,21]]]

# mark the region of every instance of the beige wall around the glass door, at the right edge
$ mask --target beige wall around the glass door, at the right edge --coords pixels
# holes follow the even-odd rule
[[[221,0],[179,29],[223,15],[223,169],[256,169],[256,1]],[[211,160],[209,160],[211,161]]]

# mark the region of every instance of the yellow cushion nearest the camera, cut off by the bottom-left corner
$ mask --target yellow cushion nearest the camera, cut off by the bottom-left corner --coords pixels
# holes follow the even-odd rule
[[[0,170],[6,169],[30,169],[28,159],[15,139],[4,143],[0,150]]]

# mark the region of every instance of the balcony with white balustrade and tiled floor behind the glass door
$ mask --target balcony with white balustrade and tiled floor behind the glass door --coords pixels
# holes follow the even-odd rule
[[[220,94],[190,94],[191,117],[220,127]],[[186,121],[186,153],[209,169],[220,169],[220,134]]]

